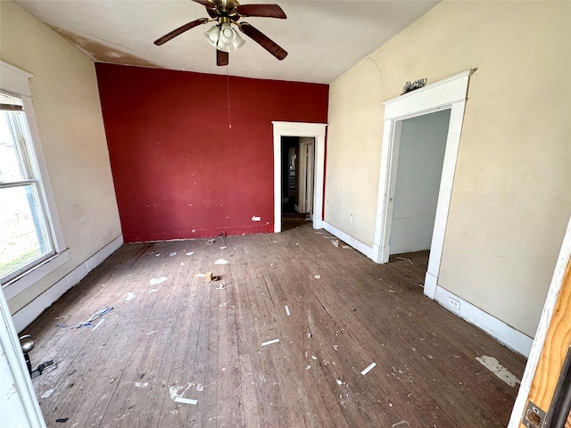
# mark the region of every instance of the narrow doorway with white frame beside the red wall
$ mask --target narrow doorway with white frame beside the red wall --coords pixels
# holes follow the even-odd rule
[[[289,210],[290,206],[294,213],[303,214],[303,222],[311,221],[314,229],[320,229],[323,224],[327,125],[303,122],[272,122],[272,124],[274,126],[274,233],[284,230],[282,212]],[[290,167],[295,169],[294,179]]]

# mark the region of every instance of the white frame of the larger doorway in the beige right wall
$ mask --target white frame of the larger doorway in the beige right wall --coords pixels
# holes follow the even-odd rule
[[[444,152],[443,175],[438,193],[434,232],[424,288],[426,296],[431,299],[434,299],[438,283],[444,234],[448,222],[451,191],[456,170],[456,160],[458,158],[460,133],[466,108],[468,80],[474,71],[464,71],[383,103],[385,106],[385,123],[372,258],[377,263],[386,263],[389,259],[401,122],[404,119],[423,116],[435,111],[451,110],[446,150]]]

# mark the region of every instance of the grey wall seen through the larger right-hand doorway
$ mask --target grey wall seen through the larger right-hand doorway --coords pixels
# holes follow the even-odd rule
[[[430,250],[450,109],[400,120],[389,254]]]

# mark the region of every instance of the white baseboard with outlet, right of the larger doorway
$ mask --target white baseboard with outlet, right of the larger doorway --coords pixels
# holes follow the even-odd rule
[[[426,288],[426,284],[425,284]],[[426,294],[426,292],[425,292]],[[451,305],[449,299],[459,302],[459,309]],[[473,325],[490,334],[498,342],[506,345],[509,349],[515,350],[524,357],[529,356],[534,340],[510,327],[500,319],[492,317],[492,315],[484,312],[484,310],[476,308],[466,300],[461,299],[456,294],[443,289],[440,285],[436,285],[434,300],[443,305],[444,308],[450,310],[461,318],[464,318]]]

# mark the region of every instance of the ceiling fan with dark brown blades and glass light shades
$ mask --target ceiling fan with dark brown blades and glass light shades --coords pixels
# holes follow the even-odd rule
[[[194,27],[203,25],[206,22],[216,22],[216,25],[205,33],[208,42],[216,47],[216,65],[228,65],[228,53],[244,45],[244,39],[240,37],[232,25],[235,25],[246,36],[252,38],[254,42],[261,45],[278,60],[281,61],[287,56],[287,52],[281,46],[264,35],[259,29],[247,22],[238,22],[243,17],[266,17],[285,20],[285,12],[277,4],[238,4],[236,0],[193,1],[203,4],[211,18],[199,18],[178,27],[178,29],[173,29],[170,33],[157,38],[154,41],[155,45],[160,46],[185,31],[194,29]]]

